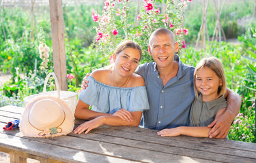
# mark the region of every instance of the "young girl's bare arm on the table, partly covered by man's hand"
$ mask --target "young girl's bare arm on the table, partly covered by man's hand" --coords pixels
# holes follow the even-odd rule
[[[216,114],[216,118],[218,116],[223,115],[223,113],[225,112],[225,109],[226,108],[219,110],[218,113]],[[210,132],[211,129],[212,128],[209,128],[209,127],[180,126],[177,128],[160,130],[159,132],[157,132],[157,134],[160,135],[161,137],[175,137],[175,136],[179,136],[181,134],[190,136],[190,137],[208,137],[209,136],[208,132]]]

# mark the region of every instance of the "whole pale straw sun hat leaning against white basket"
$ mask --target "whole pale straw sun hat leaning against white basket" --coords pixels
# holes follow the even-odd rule
[[[34,98],[25,107],[20,131],[27,137],[57,137],[72,132],[74,114],[68,105],[53,96]]]

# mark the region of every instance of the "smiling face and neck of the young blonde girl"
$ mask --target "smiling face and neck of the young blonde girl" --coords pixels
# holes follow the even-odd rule
[[[218,98],[218,87],[222,86],[221,78],[208,67],[199,69],[196,73],[195,86],[203,96],[203,101],[213,101]]]

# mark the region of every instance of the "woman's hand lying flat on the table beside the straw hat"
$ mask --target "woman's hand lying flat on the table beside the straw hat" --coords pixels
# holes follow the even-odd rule
[[[85,134],[87,134],[90,130],[94,128],[98,128],[99,126],[102,126],[103,124],[103,117],[97,117],[94,120],[90,120],[88,122],[85,122],[78,126],[75,130],[75,134],[81,134],[83,131],[85,131]]]

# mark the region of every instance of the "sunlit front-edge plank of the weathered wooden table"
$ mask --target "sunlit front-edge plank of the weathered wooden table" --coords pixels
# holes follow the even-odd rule
[[[2,149],[10,149],[12,152],[15,151],[17,156],[24,158],[29,158],[29,155],[33,155],[70,163],[134,162],[132,160],[109,157],[99,155],[97,153],[89,153],[87,151],[79,151],[72,148],[60,147],[57,145],[42,143],[39,141],[33,141],[0,133],[0,151],[2,151]]]

